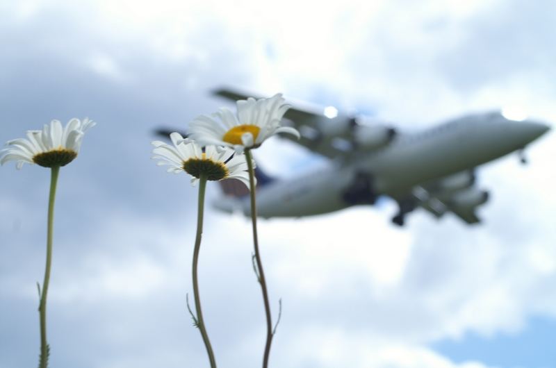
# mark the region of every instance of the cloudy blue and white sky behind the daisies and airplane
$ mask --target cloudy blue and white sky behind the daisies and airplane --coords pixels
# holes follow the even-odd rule
[[[97,122],[60,171],[48,324],[58,368],[208,367],[186,310],[197,191],[150,160],[160,126],[220,106],[222,85],[334,105],[416,131],[521,106],[556,121],[553,1],[0,1],[0,142]],[[259,222],[271,367],[552,368],[553,132],[484,165],[484,223],[395,203]],[[323,165],[291,142],[270,174]],[[324,162],[326,163],[326,162]],[[218,185],[208,185],[208,199]],[[49,172],[0,168],[0,368],[36,365]],[[261,365],[250,221],[206,211],[199,282],[219,367]]]

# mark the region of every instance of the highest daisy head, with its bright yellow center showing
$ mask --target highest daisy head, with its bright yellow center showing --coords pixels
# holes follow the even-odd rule
[[[189,124],[190,137],[201,144],[234,147],[236,151],[256,148],[276,133],[300,133],[289,126],[280,126],[280,120],[289,106],[281,94],[270,99],[237,101],[238,115],[220,108],[211,115],[199,115]]]

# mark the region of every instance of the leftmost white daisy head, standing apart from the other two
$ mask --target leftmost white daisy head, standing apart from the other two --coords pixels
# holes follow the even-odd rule
[[[95,124],[88,118],[74,118],[62,128],[58,120],[52,120],[42,131],[27,131],[27,139],[6,142],[8,147],[0,150],[0,165],[15,161],[17,169],[26,162],[42,167],[65,166],[77,157],[85,131]]]

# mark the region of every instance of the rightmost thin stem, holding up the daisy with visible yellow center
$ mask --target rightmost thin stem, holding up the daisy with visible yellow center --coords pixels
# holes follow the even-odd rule
[[[268,301],[268,290],[266,288],[265,273],[263,271],[263,262],[259,252],[259,240],[256,233],[256,200],[255,200],[255,172],[253,167],[253,158],[250,149],[245,149],[245,158],[247,159],[247,168],[249,169],[249,184],[251,195],[251,219],[253,223],[253,243],[255,249],[256,271],[263,292],[263,301],[265,304],[266,314],[266,344],[263,356],[263,368],[268,367],[268,357],[270,356],[270,344],[272,344],[272,316],[270,315],[270,302]]]

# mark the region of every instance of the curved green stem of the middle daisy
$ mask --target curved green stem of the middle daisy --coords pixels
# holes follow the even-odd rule
[[[199,249],[201,248],[201,237],[203,233],[203,210],[204,210],[204,192],[206,188],[206,173],[201,173],[199,176],[199,208],[197,210],[197,236],[195,237],[195,249],[193,250],[193,294],[195,296],[195,310],[197,310],[197,326],[201,331],[204,346],[206,346],[206,353],[208,360],[211,361],[211,368],[216,368],[216,360],[214,358],[213,348],[206,328],[204,326],[203,312],[201,310],[201,299],[199,298],[199,283],[197,281],[197,263],[199,261]]]

